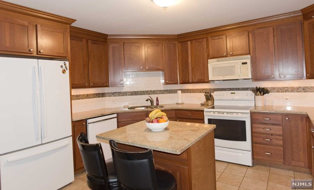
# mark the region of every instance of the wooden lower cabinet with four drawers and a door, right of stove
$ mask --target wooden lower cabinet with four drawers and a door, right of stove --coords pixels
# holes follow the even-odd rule
[[[306,116],[252,113],[253,159],[308,167]]]

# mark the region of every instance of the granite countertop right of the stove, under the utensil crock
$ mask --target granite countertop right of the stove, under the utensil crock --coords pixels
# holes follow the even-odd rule
[[[313,106],[255,106],[250,111],[263,113],[306,114],[314,124]]]

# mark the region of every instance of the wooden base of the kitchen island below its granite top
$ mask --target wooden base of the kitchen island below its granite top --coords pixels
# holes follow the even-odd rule
[[[124,150],[142,150],[143,148],[117,143]],[[214,133],[211,131],[182,154],[170,154],[153,151],[157,169],[174,175],[177,190],[215,190],[215,149]]]

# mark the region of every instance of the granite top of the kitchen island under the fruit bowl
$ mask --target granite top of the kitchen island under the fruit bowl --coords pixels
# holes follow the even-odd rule
[[[160,132],[146,127],[145,121],[96,135],[98,141],[114,140],[124,144],[181,154],[216,128],[216,125],[170,121]]]

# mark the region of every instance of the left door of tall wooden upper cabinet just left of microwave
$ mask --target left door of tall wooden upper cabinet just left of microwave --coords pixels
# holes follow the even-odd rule
[[[179,48],[179,82],[192,82],[191,42],[180,42]]]

